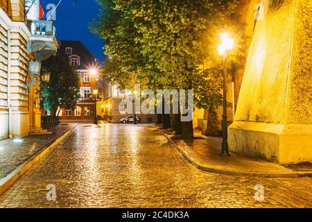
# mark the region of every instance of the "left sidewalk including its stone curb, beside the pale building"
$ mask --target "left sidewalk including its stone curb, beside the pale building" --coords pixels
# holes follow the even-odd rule
[[[12,178],[17,180],[27,170],[26,168],[31,166],[31,164],[28,164],[28,167],[23,165],[26,166],[31,160],[32,164],[37,162],[45,150],[60,142],[76,126],[77,123],[61,123],[59,126],[49,128],[51,135],[30,135],[21,139],[0,140],[0,194],[2,186],[6,185],[8,180],[10,183],[13,181]]]

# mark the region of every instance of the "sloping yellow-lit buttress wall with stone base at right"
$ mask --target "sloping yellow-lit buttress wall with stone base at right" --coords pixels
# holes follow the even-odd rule
[[[312,162],[312,0],[261,3],[229,147],[273,162]]]

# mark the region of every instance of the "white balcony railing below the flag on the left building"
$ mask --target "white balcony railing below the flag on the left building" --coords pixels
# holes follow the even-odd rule
[[[31,21],[31,35],[38,36],[53,36],[56,35],[55,27],[52,21],[41,21],[32,20]]]

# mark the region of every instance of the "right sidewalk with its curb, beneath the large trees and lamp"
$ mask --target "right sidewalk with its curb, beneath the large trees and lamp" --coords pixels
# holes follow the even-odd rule
[[[232,176],[257,176],[266,178],[297,178],[312,176],[312,164],[298,164],[283,167],[252,157],[231,153],[230,157],[220,157],[222,138],[205,137],[195,131],[196,139],[184,140],[173,135],[172,130],[155,127],[177,148],[191,164],[203,171]]]

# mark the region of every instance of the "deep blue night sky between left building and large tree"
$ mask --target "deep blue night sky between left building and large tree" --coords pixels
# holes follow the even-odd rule
[[[60,0],[40,0],[45,14],[49,3],[58,4]],[[90,33],[89,22],[97,17],[100,6],[95,0],[78,0],[73,6],[73,0],[62,0],[56,10],[54,25],[58,40],[80,40],[99,60],[103,60],[103,40]],[[47,19],[46,17],[44,19]],[[42,19],[42,20],[44,20]]]

